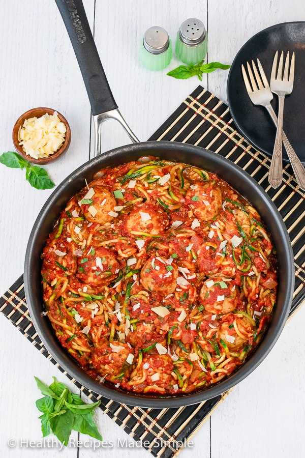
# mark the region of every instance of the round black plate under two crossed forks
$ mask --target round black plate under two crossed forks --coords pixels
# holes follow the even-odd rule
[[[227,83],[227,97],[231,115],[237,129],[258,150],[272,155],[276,127],[267,110],[253,105],[246,91],[241,64],[258,58],[270,81],[271,67],[276,51],[295,52],[293,91],[285,98],[284,131],[299,159],[305,164],[305,22],[284,22],[272,25],[254,35],[238,51],[233,61]],[[271,105],[278,113],[278,96],[274,94]],[[283,160],[288,156],[283,147]]]

